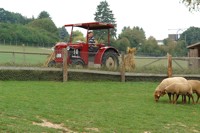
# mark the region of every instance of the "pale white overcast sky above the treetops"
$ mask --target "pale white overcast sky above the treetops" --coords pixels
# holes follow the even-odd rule
[[[0,8],[31,18],[49,13],[57,27],[93,22],[97,6],[104,0],[0,0]],[[181,34],[191,26],[200,27],[200,12],[189,12],[180,0],[106,0],[114,14],[117,33],[124,26],[143,28],[145,35],[162,40]]]

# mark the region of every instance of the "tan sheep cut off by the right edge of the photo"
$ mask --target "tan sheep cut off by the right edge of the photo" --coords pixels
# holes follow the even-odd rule
[[[198,103],[199,97],[200,97],[200,81],[199,80],[188,80],[188,83],[192,86],[193,93],[197,94],[196,103]]]

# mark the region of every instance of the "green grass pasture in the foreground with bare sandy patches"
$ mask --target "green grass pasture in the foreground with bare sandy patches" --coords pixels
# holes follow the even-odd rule
[[[199,104],[155,103],[157,85],[1,81],[0,132],[200,132]]]

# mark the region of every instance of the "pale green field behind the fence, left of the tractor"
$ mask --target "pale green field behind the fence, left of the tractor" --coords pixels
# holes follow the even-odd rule
[[[10,46],[0,45],[0,51],[6,52],[25,52],[25,53],[44,53],[50,54],[52,50],[40,47],[27,46]],[[44,64],[48,55],[40,54],[20,54],[20,53],[1,53],[0,64],[17,64],[17,65],[40,65]]]

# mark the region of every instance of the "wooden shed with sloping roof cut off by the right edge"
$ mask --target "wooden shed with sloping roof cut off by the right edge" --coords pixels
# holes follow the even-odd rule
[[[199,68],[200,67],[200,42],[187,46],[189,49],[188,56],[189,67],[190,68]]]

